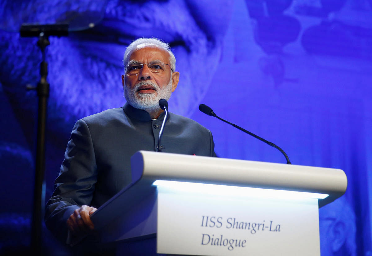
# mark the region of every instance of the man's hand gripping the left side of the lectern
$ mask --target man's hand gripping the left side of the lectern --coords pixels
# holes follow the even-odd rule
[[[89,215],[97,211],[97,208],[83,205],[76,209],[67,220],[68,229],[75,235],[88,233],[94,229],[94,224]]]

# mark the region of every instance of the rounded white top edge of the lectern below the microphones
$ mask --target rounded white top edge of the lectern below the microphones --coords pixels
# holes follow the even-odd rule
[[[217,157],[138,151],[131,158],[132,179],[177,180],[219,185],[325,193],[320,207],[344,194],[347,178],[340,169],[267,163]]]

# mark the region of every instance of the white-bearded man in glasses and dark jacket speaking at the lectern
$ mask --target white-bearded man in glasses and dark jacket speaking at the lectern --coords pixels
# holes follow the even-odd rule
[[[67,144],[55,191],[45,214],[47,227],[65,240],[94,229],[89,215],[131,182],[130,158],[138,150],[158,151],[164,119],[159,100],[168,100],[179,72],[169,45],[155,38],[132,42],[124,54],[122,84],[127,103],[78,120]],[[163,152],[215,156],[211,132],[169,113]]]

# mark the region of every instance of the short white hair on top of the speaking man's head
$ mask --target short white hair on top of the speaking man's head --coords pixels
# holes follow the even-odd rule
[[[125,72],[126,72],[126,65],[128,64],[128,61],[129,61],[129,58],[132,52],[136,49],[140,49],[140,48],[144,48],[148,46],[156,46],[156,47],[160,47],[166,50],[169,53],[169,62],[170,62],[169,65],[173,71],[176,70],[176,58],[174,57],[169,47],[169,44],[153,37],[153,38],[138,38],[128,45],[128,47],[126,48],[124,52],[124,60],[123,60]]]

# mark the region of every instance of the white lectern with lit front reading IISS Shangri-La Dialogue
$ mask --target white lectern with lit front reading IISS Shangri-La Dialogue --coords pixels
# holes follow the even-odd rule
[[[156,239],[154,255],[320,256],[318,208],[347,187],[342,170],[291,164],[138,151],[131,165],[91,215],[118,255]]]

